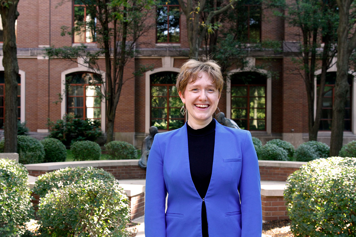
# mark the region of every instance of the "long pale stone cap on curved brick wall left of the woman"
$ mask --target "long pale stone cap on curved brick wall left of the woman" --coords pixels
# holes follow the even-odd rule
[[[100,161],[65,161],[65,162],[48,162],[25,165],[30,170],[52,171],[70,167],[103,167],[103,166],[137,166],[138,160],[100,160]]]

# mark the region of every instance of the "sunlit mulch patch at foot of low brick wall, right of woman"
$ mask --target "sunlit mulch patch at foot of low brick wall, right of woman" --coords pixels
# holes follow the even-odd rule
[[[262,224],[262,233],[266,237],[294,237],[289,225],[289,220],[268,221]]]

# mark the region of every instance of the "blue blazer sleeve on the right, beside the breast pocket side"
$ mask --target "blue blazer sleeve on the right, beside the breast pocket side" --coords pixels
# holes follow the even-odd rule
[[[260,169],[250,131],[242,148],[242,168],[239,183],[241,201],[241,237],[261,237],[262,205]]]

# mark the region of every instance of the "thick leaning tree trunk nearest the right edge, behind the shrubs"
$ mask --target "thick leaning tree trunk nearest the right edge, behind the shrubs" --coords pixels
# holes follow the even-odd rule
[[[344,132],[346,93],[349,90],[347,72],[349,70],[349,10],[351,1],[337,1],[339,6],[339,27],[337,28],[337,72],[335,99],[333,103],[333,121],[331,122],[330,156],[339,155]],[[352,52],[352,50],[351,50]]]

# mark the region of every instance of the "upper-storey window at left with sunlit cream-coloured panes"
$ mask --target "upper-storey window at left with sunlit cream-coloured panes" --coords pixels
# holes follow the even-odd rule
[[[95,5],[84,5],[89,0],[74,0],[73,9],[73,42],[96,42],[96,8]]]

